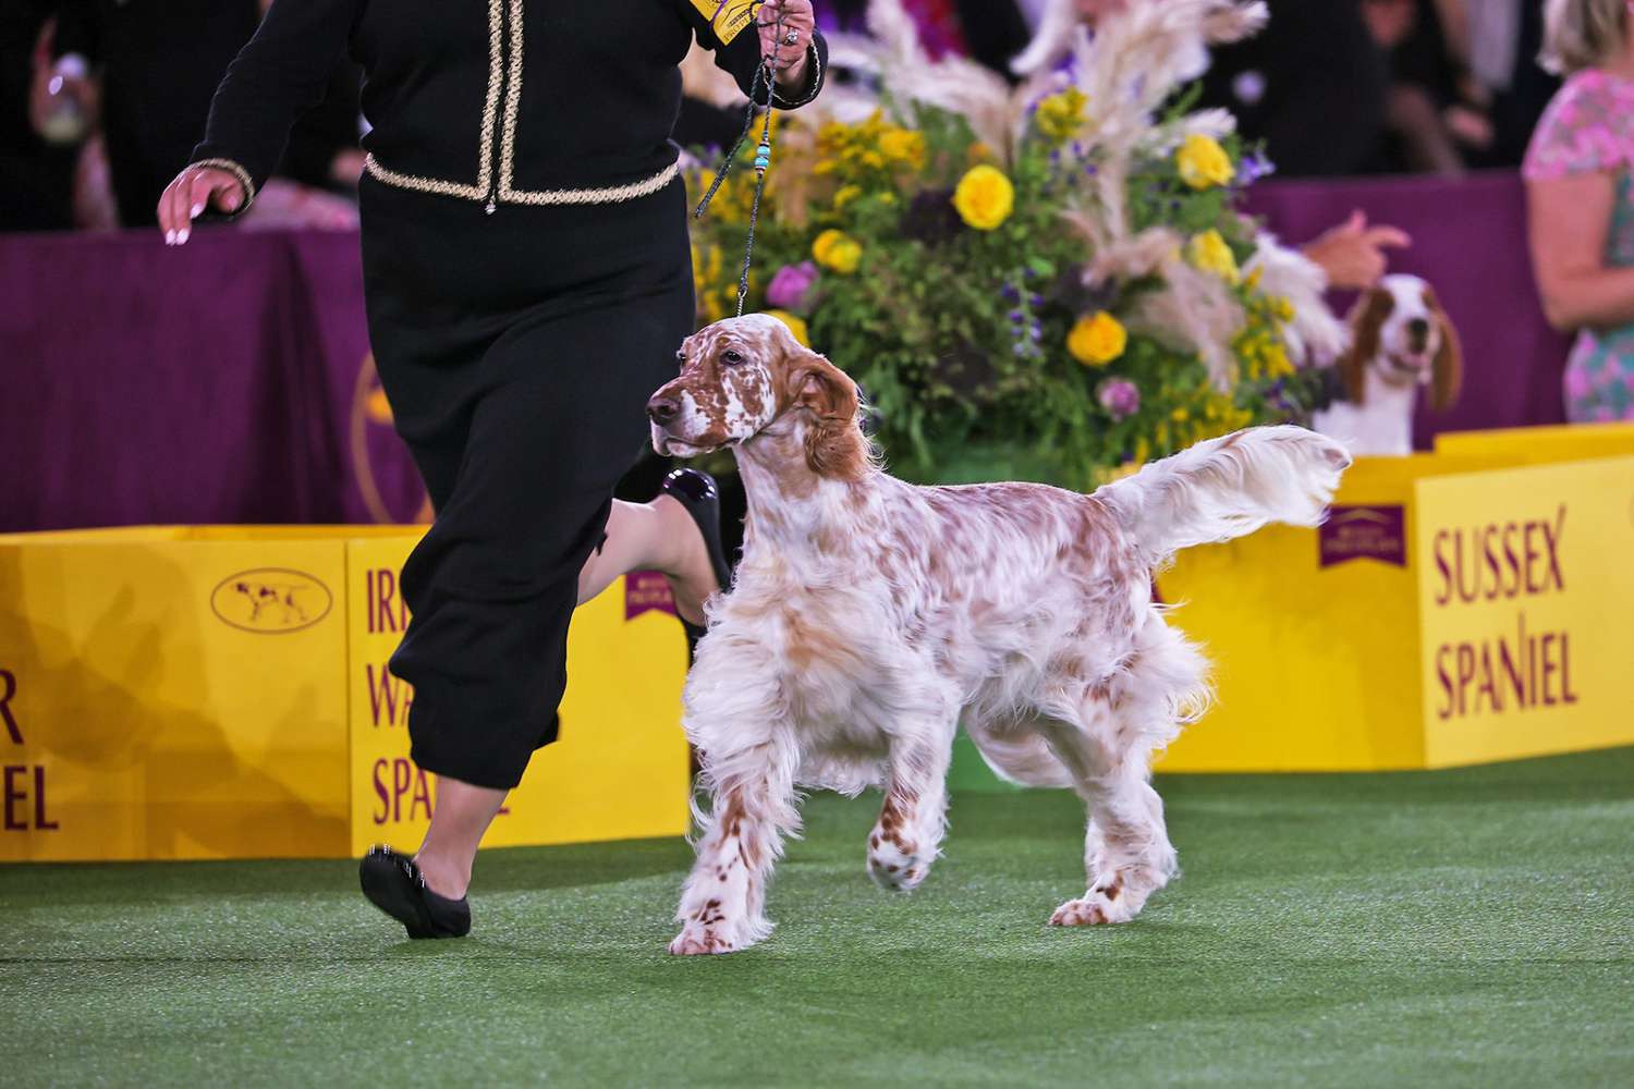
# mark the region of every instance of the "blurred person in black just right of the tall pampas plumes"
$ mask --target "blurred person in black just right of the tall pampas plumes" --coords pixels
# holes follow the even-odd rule
[[[1266,7],[1263,33],[1216,49],[1201,104],[1237,114],[1281,176],[1359,173],[1384,129],[1389,69],[1358,0]]]

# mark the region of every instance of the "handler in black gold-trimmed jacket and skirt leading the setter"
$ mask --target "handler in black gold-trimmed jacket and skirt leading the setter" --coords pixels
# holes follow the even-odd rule
[[[392,671],[440,777],[420,852],[371,852],[363,885],[415,937],[471,927],[477,844],[556,738],[575,604],[650,567],[696,622],[724,578],[706,477],[611,498],[693,330],[670,129],[694,34],[745,93],[775,54],[779,108],[822,87],[809,0],[276,0],[158,206],[172,245],[243,212],[342,56],[363,65],[369,338],[436,508]]]

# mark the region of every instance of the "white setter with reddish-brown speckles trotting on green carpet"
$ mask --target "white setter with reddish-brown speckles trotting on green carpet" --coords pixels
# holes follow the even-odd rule
[[[1208,702],[1206,663],[1152,602],[1175,550],[1314,526],[1350,456],[1302,428],[1199,442],[1095,495],[922,488],[874,462],[856,385],[752,315],[688,338],[647,405],[660,454],[732,446],[743,562],[709,606],[686,735],[712,795],[675,953],[771,932],[766,883],[796,789],[884,789],[868,872],[925,880],[962,722],[993,769],[1088,805],[1088,887],[1051,922],[1132,919],[1176,872],[1149,762]]]

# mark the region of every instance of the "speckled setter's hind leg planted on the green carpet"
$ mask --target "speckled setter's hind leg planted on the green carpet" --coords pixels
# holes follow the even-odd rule
[[[1176,632],[1154,624],[1126,671],[1085,692],[1077,722],[1041,723],[1090,818],[1088,890],[1056,909],[1054,926],[1126,922],[1178,872],[1163,800],[1149,782],[1150,756],[1203,699],[1204,663]]]

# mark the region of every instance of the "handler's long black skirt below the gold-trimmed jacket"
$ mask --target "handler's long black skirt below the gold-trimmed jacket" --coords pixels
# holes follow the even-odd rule
[[[376,366],[436,508],[392,658],[412,756],[510,789],[556,740],[578,571],[693,330],[685,188],[493,216],[373,178],[361,196]]]

